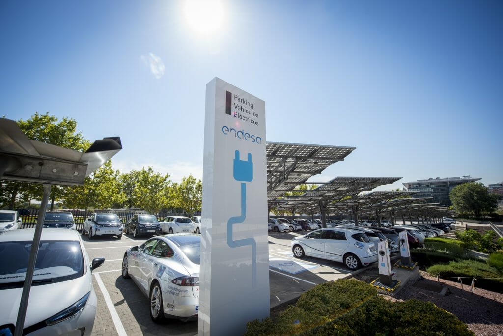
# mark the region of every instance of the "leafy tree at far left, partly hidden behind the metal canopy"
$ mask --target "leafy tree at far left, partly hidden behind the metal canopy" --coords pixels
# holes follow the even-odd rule
[[[17,123],[26,136],[32,140],[78,151],[86,150],[91,145],[80,132],[76,132],[77,122],[71,118],[64,117],[58,121],[58,118],[49,115],[49,112],[45,114],[36,112],[30,119],[20,119]],[[6,190],[7,193],[4,193],[3,196],[9,198],[7,206],[11,209],[18,200],[42,199],[43,186],[40,184],[12,182],[8,183],[8,189],[4,189],[5,183],[2,183],[2,190]],[[54,201],[63,197],[65,188],[67,187],[52,186],[51,210]]]

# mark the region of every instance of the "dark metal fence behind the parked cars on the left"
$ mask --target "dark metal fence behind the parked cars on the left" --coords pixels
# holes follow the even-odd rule
[[[71,212],[73,214],[73,220],[75,221],[76,229],[81,230],[84,221],[91,216],[93,212],[110,212],[110,213],[115,213],[117,216],[119,216],[119,219],[121,220],[122,224],[126,224],[127,221],[134,215],[134,214],[139,214],[139,213],[148,213],[146,211],[130,211],[130,210],[123,210],[123,211],[86,211],[86,210],[60,210],[60,211],[67,211]],[[21,218],[23,219],[23,227],[24,229],[31,229],[34,228],[35,225],[37,224],[38,220],[38,209],[32,209],[30,210],[29,214],[26,215],[21,215]],[[192,216],[200,216],[201,213],[174,213],[174,212],[156,212],[152,213],[155,217],[157,217],[157,220],[161,220],[162,218],[166,216],[185,216],[185,217],[192,217]]]

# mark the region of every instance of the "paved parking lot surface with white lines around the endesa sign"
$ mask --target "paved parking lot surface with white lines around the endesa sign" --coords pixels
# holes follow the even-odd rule
[[[351,276],[343,264],[306,257],[293,257],[290,240],[301,232],[269,233],[269,278],[271,307],[295,299],[307,289],[326,281]],[[150,319],[149,300],[131,279],[121,276],[122,258],[126,249],[143,243],[148,237],[122,239],[82,237],[90,260],[106,258],[103,266],[93,272],[93,282],[98,296],[93,335],[194,335],[197,321],[169,320],[156,324]],[[372,267],[372,266],[370,266]],[[229,317],[231,318],[231,317]]]

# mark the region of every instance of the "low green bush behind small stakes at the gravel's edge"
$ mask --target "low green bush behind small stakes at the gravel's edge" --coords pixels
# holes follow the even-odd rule
[[[497,269],[487,263],[475,260],[461,260],[450,262],[448,265],[434,265],[427,269],[433,276],[450,277],[448,280],[457,281],[458,277],[464,284],[471,284],[472,278],[476,278],[475,287],[503,293],[503,277]]]

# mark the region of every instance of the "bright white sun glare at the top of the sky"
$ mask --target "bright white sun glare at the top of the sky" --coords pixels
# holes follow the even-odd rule
[[[222,26],[223,6],[220,0],[186,0],[185,17],[193,30],[210,35]]]

